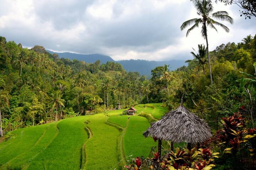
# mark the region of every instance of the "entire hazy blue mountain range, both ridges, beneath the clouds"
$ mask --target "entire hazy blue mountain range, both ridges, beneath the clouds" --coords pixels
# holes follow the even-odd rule
[[[70,60],[76,59],[80,61],[85,61],[86,63],[94,63],[100,60],[101,63],[106,63],[108,61],[117,62],[122,64],[123,68],[128,72],[139,72],[141,75],[146,75],[150,77],[151,70],[158,66],[164,66],[164,64],[170,65],[170,70],[175,70],[183,65],[187,65],[185,60],[170,60],[170,61],[148,61],[148,60],[119,60],[114,61],[110,56],[105,56],[102,54],[77,54],[71,52],[53,52],[46,50],[49,53],[56,53],[60,58],[69,58]]]

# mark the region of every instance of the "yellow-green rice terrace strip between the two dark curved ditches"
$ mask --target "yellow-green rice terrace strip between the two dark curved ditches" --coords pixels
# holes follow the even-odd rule
[[[120,132],[107,124],[103,114],[91,116],[87,126],[92,137],[85,143],[86,170],[119,169],[118,137]]]

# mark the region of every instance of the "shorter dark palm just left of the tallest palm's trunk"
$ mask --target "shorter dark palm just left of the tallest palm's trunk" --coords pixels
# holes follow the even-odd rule
[[[192,48],[193,49],[193,48]],[[193,49],[194,50],[194,49]],[[196,50],[194,50],[196,51]],[[198,44],[198,53],[196,52],[196,54],[192,51],[190,52],[193,57],[194,57],[194,60],[187,60],[185,61],[186,63],[187,62],[197,62],[199,65],[202,65],[203,67],[203,72],[204,72],[204,64],[207,64],[207,60],[206,60],[206,55],[207,55],[207,52],[206,52],[206,47],[205,45],[202,45],[202,44]],[[205,75],[205,72],[204,72],[204,75]]]

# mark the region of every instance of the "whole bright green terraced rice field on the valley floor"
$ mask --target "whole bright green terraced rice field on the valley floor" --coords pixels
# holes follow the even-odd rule
[[[142,133],[150,126],[149,118],[166,112],[161,103],[135,108],[129,120],[122,109],[12,131],[0,143],[0,170],[122,169],[128,156],[146,157],[157,145]]]

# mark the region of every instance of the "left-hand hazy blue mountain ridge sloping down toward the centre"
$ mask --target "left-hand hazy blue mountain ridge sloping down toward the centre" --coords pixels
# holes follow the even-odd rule
[[[110,56],[105,56],[102,54],[76,54],[71,52],[53,52],[50,50],[46,50],[49,53],[58,54],[60,58],[69,58],[70,60],[76,59],[80,61],[85,61],[86,63],[94,63],[97,60],[100,60],[101,63],[106,63],[108,61],[114,61]]]

